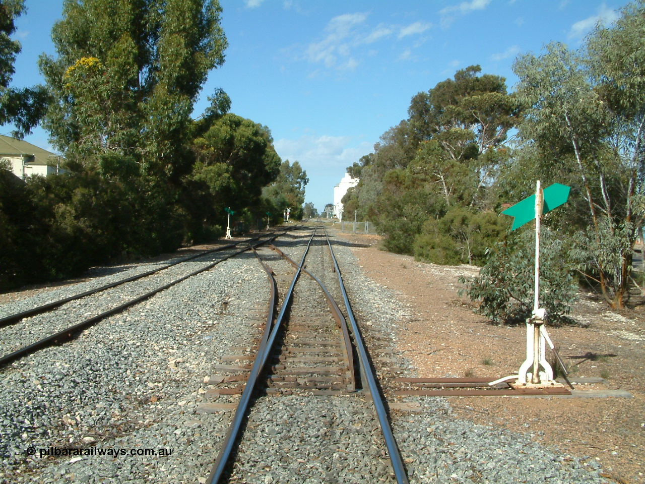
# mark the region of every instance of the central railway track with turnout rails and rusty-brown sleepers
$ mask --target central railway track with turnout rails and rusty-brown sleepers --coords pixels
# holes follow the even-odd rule
[[[246,457],[252,454],[253,442],[258,438],[249,438],[249,434],[280,432],[285,438],[286,449],[307,449],[303,458],[291,456],[283,462],[286,467],[292,466],[296,474],[301,464],[307,464],[330,479],[341,472],[367,472],[370,475],[372,471],[342,469],[342,459],[337,451],[344,452],[346,439],[353,438],[354,443],[359,443],[355,450],[359,453],[373,449],[373,444],[378,443],[381,452],[373,456],[372,462],[377,463],[375,469],[381,474],[379,480],[408,483],[332,245],[326,234],[316,236],[314,230],[306,247],[298,249],[287,251],[272,245],[270,250],[274,254],[267,254],[268,248],[256,253],[268,274],[271,294],[283,295],[280,310],[276,311],[273,304],[277,297],[272,296],[263,336],[254,345],[253,354],[230,356],[237,363],[252,359],[252,365],[224,366],[221,367],[224,370],[222,374],[209,378],[210,383],[217,385],[210,390],[210,396],[241,394],[241,398],[206,482],[216,484],[225,482],[225,479],[230,483],[253,481],[263,471],[253,469],[251,459],[235,461],[235,455]],[[294,257],[286,252],[292,252]],[[280,271],[275,270],[278,266]],[[335,290],[331,292],[342,295],[341,305],[352,324],[353,338],[350,338],[339,304],[321,281],[333,282],[332,275],[337,279]],[[277,316],[273,318],[276,312]],[[257,400],[259,396],[263,399],[261,402]],[[286,398],[288,400],[283,404]],[[228,401],[224,405],[230,405]],[[266,407],[271,410],[267,411]],[[317,410],[321,407],[324,410]],[[217,403],[201,405],[203,412],[218,408],[222,407]],[[333,412],[330,411],[332,408]],[[344,420],[339,416],[342,410],[345,415],[357,418],[349,424],[333,425],[335,419]],[[297,411],[307,412],[312,426],[317,429],[303,432],[290,427],[289,415]],[[264,416],[257,418],[257,414]],[[330,419],[329,414],[335,418]],[[346,431],[344,425],[362,428],[361,436]],[[312,454],[314,458],[304,459]],[[387,464],[385,456],[389,458]],[[306,477],[303,475],[302,478]]]

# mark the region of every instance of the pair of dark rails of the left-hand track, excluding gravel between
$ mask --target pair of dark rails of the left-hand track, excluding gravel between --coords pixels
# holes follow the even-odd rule
[[[283,232],[284,233],[284,232]],[[68,328],[65,328],[64,330],[55,332],[54,334],[50,334],[50,336],[46,336],[46,338],[39,339],[38,341],[35,341],[34,343],[31,343],[30,345],[26,345],[25,347],[19,348],[13,352],[10,352],[6,354],[5,356],[0,357],[0,366],[2,365],[8,365],[9,363],[12,363],[13,361],[16,361],[17,359],[23,358],[24,356],[27,356],[29,354],[34,353],[37,350],[40,350],[45,347],[49,347],[52,345],[58,345],[61,343],[64,343],[66,341],[70,341],[71,339],[76,338],[83,332],[85,329],[92,327],[92,325],[95,325],[102,319],[108,318],[108,316],[112,316],[113,314],[117,314],[119,312],[122,312],[126,308],[129,308],[137,303],[141,303],[142,301],[149,299],[150,297],[154,296],[155,294],[166,290],[178,283],[181,283],[182,281],[185,281],[189,277],[196,276],[197,274],[201,274],[201,272],[204,272],[206,270],[210,270],[215,265],[230,259],[231,257],[235,257],[239,254],[242,254],[243,252],[246,252],[247,250],[250,250],[255,247],[260,247],[261,245],[264,245],[266,243],[270,243],[273,240],[275,240],[277,237],[279,237],[281,234],[275,234],[273,235],[273,232],[270,232],[269,234],[265,234],[264,236],[258,236],[258,237],[253,237],[251,239],[246,239],[243,241],[239,241],[237,243],[233,244],[228,244],[228,245],[223,245],[221,247],[213,248],[210,250],[203,251],[199,254],[196,254],[194,256],[190,257],[184,257],[183,259],[179,261],[175,261],[173,263],[170,263],[168,265],[164,265],[164,267],[157,268],[155,270],[150,270],[147,272],[144,272],[143,274],[138,274],[137,276],[133,277],[128,277],[126,279],[122,279],[121,281],[117,281],[115,283],[110,283],[108,285],[104,285],[102,287],[96,288],[94,290],[90,290],[87,292],[83,292],[82,294],[77,294],[72,297],[66,297],[64,299],[61,299],[59,301],[54,301],[53,303],[48,303],[46,305],[42,305],[40,307],[36,307],[31,310],[23,311],[18,314],[13,314],[10,316],[6,316],[5,318],[0,320],[0,326],[4,325],[12,325],[15,324],[17,321],[21,319],[28,318],[30,316],[34,316],[36,314],[42,314],[44,312],[49,312],[54,310],[55,308],[58,308],[62,306],[64,303],[67,303],[69,301],[74,301],[75,299],[81,299],[82,297],[86,296],[91,296],[92,294],[97,294],[98,292],[103,292],[104,290],[107,290],[109,288],[117,287],[119,285],[122,285],[124,283],[130,282],[130,281],[135,281],[137,279],[141,279],[146,276],[151,276],[152,274],[156,274],[162,270],[166,270],[170,267],[174,267],[176,265],[179,265],[181,263],[185,263],[187,261],[194,261],[194,259],[197,259],[198,257],[204,257],[212,254],[213,252],[223,252],[224,250],[229,250],[229,249],[234,249],[238,245],[245,245],[243,248],[239,248],[237,250],[232,250],[232,252],[225,254],[223,257],[219,257],[215,261],[212,261],[205,265],[204,267],[200,267],[197,270],[194,270],[192,272],[189,272],[188,274],[181,276],[177,279],[173,279],[169,283],[165,283],[154,290],[150,290],[148,292],[145,292],[144,294],[141,294],[141,296],[134,297],[133,299],[128,300],[125,303],[122,303],[120,305],[117,305],[116,307],[113,307],[109,310],[106,310],[104,312],[101,312],[100,314],[97,314],[96,316],[88,319],[84,319],[83,321],[76,323],[75,325],[72,325]],[[266,237],[266,238],[264,238]],[[264,240],[260,240],[264,238]],[[255,241],[255,243],[253,243]]]

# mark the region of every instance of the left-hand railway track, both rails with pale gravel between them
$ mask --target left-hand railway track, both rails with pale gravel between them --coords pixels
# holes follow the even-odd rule
[[[41,348],[74,339],[99,321],[277,236],[272,232],[219,245],[74,296],[5,315],[0,318],[0,366]]]

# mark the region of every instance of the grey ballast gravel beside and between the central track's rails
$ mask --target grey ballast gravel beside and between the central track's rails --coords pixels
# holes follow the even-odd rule
[[[304,234],[290,235],[281,248],[299,260]],[[395,294],[362,276],[349,248],[334,250],[366,340],[392,338],[408,308],[388,305]],[[247,252],[79,339],[0,368],[0,483],[203,483],[232,419],[232,412],[197,413],[209,401],[204,376],[239,352],[233,347],[259,338],[267,297],[266,275]],[[30,302],[37,305],[21,304]],[[378,365],[377,373],[388,372]],[[529,435],[453,418],[446,399],[405,401],[421,406],[391,414],[411,483],[605,482],[593,463]],[[240,476],[258,484],[394,482],[373,406],[361,394],[267,396],[255,405],[231,483]],[[268,415],[284,426],[268,425]],[[312,447],[321,442],[325,452]],[[46,455],[55,449],[85,454]]]

